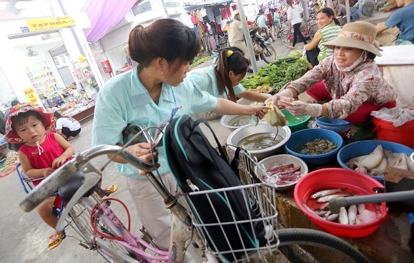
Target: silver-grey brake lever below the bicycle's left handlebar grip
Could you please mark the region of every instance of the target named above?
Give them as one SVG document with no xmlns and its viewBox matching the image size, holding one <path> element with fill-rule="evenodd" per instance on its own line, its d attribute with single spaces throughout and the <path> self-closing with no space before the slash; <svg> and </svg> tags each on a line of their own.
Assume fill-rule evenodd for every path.
<svg viewBox="0 0 414 263">
<path fill-rule="evenodd" d="M 77 191 L 71 198 L 71 201 L 69 201 L 69 203 L 66 204 L 63 213 L 60 214 L 58 224 L 55 227 L 56 231 L 62 232 L 64 230 L 64 219 L 69 215 L 69 212 L 71 212 L 73 205 L 75 205 L 77 201 L 86 194 L 86 192 L 88 192 L 91 188 L 95 187 L 100 180 L 101 175 L 97 173 L 85 175 L 84 183 L 82 184 L 82 186 L 80 186 L 80 188 L 77 189 Z"/>
</svg>

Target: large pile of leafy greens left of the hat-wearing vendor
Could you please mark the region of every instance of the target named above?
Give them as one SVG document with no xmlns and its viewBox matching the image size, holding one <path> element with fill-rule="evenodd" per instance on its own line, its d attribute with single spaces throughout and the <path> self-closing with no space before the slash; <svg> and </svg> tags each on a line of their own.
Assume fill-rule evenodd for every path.
<svg viewBox="0 0 414 263">
<path fill-rule="evenodd" d="M 284 58 L 282 58 L 284 59 Z M 298 79 L 308 71 L 308 62 L 300 58 L 294 62 L 281 62 L 260 68 L 256 75 L 250 75 L 243 79 L 241 84 L 246 89 L 258 86 L 272 86 L 273 92 L 279 92 L 280 88 L 295 79 Z"/>
</svg>

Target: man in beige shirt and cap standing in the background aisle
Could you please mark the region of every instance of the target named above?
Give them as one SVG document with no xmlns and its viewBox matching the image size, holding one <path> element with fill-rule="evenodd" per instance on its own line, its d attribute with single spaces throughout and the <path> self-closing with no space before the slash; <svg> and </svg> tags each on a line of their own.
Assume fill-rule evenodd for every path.
<svg viewBox="0 0 414 263">
<path fill-rule="evenodd" d="M 243 27 L 241 25 L 239 10 L 234 10 L 233 16 L 234 20 L 230 24 L 230 28 L 228 30 L 228 42 L 230 44 L 230 47 L 236 47 L 240 49 L 243 52 L 245 58 L 250 61 L 249 51 L 247 50 L 245 35 L 243 34 Z M 256 27 L 254 25 L 247 25 L 247 27 L 249 30 L 260 29 L 260 27 Z"/>
</svg>

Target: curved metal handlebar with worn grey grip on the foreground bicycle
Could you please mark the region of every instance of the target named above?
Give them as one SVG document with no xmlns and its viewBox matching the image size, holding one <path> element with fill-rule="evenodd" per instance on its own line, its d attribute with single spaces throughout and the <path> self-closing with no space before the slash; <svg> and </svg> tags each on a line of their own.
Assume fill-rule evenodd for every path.
<svg viewBox="0 0 414 263">
<path fill-rule="evenodd" d="M 21 201 L 20 208 L 25 212 L 32 211 L 43 200 L 52 195 L 53 192 L 56 192 L 60 186 L 64 185 L 64 183 L 77 171 L 82 171 L 84 173 L 91 172 L 92 170 L 90 169 L 90 166 L 87 166 L 89 160 L 104 154 L 121 155 L 121 157 L 128 163 L 143 171 L 151 171 L 155 168 L 153 164 L 147 164 L 139 160 L 129 151 L 121 149 L 120 146 L 97 145 L 86 151 L 82 151 L 82 153 L 78 153 L 75 158 L 66 162 L 66 164 L 58 168 L 58 170 L 46 177 L 38 186 L 29 192 L 23 201 Z"/>
</svg>

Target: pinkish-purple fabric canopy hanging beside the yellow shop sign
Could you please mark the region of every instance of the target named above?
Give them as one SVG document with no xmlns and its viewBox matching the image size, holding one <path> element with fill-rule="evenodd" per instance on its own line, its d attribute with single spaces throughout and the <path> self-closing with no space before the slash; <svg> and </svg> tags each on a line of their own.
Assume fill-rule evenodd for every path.
<svg viewBox="0 0 414 263">
<path fill-rule="evenodd" d="M 90 28 L 84 30 L 89 42 L 97 42 L 117 25 L 135 3 L 143 0 L 90 0 L 83 11 L 88 14 Z"/>
</svg>

